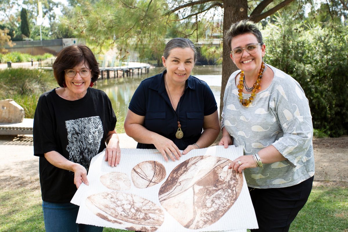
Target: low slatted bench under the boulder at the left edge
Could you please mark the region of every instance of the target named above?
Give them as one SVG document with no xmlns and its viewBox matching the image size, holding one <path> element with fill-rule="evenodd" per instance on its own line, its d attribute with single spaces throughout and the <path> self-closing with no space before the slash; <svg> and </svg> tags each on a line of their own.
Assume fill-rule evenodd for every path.
<svg viewBox="0 0 348 232">
<path fill-rule="evenodd" d="M 19 123 L 0 123 L 0 135 L 32 135 L 34 119 L 25 118 Z"/>
</svg>

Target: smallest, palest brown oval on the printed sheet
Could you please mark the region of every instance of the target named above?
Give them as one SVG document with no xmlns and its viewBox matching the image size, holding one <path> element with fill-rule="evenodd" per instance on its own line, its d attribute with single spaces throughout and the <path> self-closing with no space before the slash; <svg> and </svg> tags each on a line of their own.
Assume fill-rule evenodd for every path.
<svg viewBox="0 0 348 232">
<path fill-rule="evenodd" d="M 130 189 L 130 180 L 127 174 L 117 171 L 101 176 L 100 182 L 102 182 L 105 187 L 112 190 L 120 191 Z"/>
</svg>

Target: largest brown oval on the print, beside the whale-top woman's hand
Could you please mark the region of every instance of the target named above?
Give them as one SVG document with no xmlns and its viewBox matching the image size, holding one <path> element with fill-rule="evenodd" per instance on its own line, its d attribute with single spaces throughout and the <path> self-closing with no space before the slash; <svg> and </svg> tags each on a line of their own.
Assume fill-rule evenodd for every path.
<svg viewBox="0 0 348 232">
<path fill-rule="evenodd" d="M 217 222 L 236 202 L 243 187 L 242 173 L 228 169 L 231 162 L 210 155 L 182 162 L 159 189 L 161 205 L 188 229 Z"/>
</svg>

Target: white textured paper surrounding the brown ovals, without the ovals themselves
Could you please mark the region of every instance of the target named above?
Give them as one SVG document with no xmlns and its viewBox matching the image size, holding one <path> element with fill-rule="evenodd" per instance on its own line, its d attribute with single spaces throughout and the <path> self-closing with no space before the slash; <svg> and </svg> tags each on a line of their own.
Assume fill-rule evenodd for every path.
<svg viewBox="0 0 348 232">
<path fill-rule="evenodd" d="M 212 155 L 215 157 L 223 157 L 230 160 L 234 160 L 243 154 L 242 147 L 229 146 L 224 149 L 223 146 L 212 146 L 205 149 L 194 149 L 188 154 L 182 155 L 180 160 L 175 162 L 169 159 L 168 162 L 164 160 L 162 155 L 156 149 L 121 149 L 121 160 L 117 167 L 110 167 L 108 162 L 104 161 L 104 151 L 96 155 L 89 167 L 87 175 L 89 185 L 81 184 L 76 194 L 71 200 L 71 203 L 80 205 L 77 223 L 97 225 L 104 227 L 112 227 L 116 229 L 125 229 L 116 223 L 111 223 L 103 220 L 102 218 L 94 215 L 85 204 L 86 198 L 89 195 L 101 193 L 101 192 L 113 192 L 112 190 L 105 187 L 100 182 L 100 176 L 108 174 L 110 172 L 121 172 L 125 173 L 131 179 L 131 170 L 138 163 L 148 160 L 158 161 L 162 163 L 166 169 L 166 177 L 159 184 L 153 185 L 145 189 L 138 189 L 133 185 L 132 180 L 130 190 L 121 192 L 132 193 L 139 195 L 142 198 L 148 199 L 164 211 L 164 222 L 157 230 L 158 232 L 189 232 L 189 231 L 234 231 L 234 232 L 245 232 L 246 229 L 257 229 L 258 224 L 255 217 L 255 211 L 252 206 L 250 195 L 248 192 L 247 184 L 243 174 L 243 188 L 239 194 L 238 199 L 232 205 L 232 207 L 225 213 L 217 222 L 201 229 L 187 229 L 177 222 L 167 211 L 161 206 L 158 200 L 158 192 L 160 186 L 166 181 L 171 171 L 179 165 L 181 162 L 199 155 Z M 182 212 L 185 213 L 185 212 Z"/>
</svg>

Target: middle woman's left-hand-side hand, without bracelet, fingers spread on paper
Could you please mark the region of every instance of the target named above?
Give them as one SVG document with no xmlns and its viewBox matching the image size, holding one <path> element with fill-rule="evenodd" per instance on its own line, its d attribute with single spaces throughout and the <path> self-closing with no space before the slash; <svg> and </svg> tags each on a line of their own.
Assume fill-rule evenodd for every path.
<svg viewBox="0 0 348 232">
<path fill-rule="evenodd" d="M 175 161 L 175 158 L 179 160 L 181 153 L 179 151 L 179 148 L 173 143 L 173 141 L 161 135 L 158 136 L 158 139 L 156 139 L 155 141 L 156 142 L 153 143 L 153 145 L 155 145 L 157 150 L 162 154 L 163 158 L 166 161 L 168 161 L 167 154 L 169 155 L 171 160 Z"/>
</svg>

